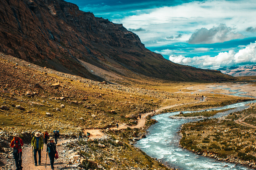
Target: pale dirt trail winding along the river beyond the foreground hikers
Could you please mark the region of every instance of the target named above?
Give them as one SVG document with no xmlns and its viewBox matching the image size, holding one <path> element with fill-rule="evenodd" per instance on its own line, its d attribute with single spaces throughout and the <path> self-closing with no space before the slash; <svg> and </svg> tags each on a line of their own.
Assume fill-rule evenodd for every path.
<svg viewBox="0 0 256 170">
<path fill-rule="evenodd" d="M 200 102 L 203 102 L 203 101 L 192 102 L 192 103 L 200 103 Z M 172 107 L 175 107 L 175 106 L 187 105 L 187 104 L 192 104 L 192 103 L 183 103 L 183 104 L 176 104 L 176 105 L 162 107 L 162 108 L 156 109 L 155 113 L 158 113 L 158 112 L 160 112 L 164 109 L 169 109 L 169 108 L 172 108 Z M 135 125 L 135 126 L 119 125 L 118 128 L 123 129 L 123 128 L 127 128 L 127 127 L 130 127 L 130 128 L 144 127 L 144 125 L 146 123 L 146 117 L 148 115 L 152 115 L 152 114 L 154 114 L 154 113 L 153 112 L 148 112 L 148 113 L 141 114 L 141 119 L 137 118 L 139 120 L 138 120 L 137 125 Z M 110 128 L 110 129 L 117 129 L 117 128 L 114 127 L 114 128 Z M 86 132 L 89 132 L 91 134 L 90 138 L 101 138 L 104 135 L 104 133 L 102 133 L 100 130 L 101 129 L 86 129 L 86 130 L 84 130 L 84 133 L 86 134 Z"/>
</svg>

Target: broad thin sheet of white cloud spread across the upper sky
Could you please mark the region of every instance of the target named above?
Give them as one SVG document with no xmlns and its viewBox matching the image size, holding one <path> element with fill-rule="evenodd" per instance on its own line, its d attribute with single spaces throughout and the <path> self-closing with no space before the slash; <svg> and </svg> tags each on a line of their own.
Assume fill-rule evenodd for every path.
<svg viewBox="0 0 256 170">
<path fill-rule="evenodd" d="M 231 31 L 226 30 L 229 31 L 227 33 L 225 29 L 223 33 L 218 32 L 222 37 L 219 38 L 216 34 L 211 37 L 214 40 L 206 41 L 212 43 L 239 38 L 241 34 L 252 37 L 253 32 L 248 32 L 246 29 L 256 27 L 255 19 L 252 17 L 256 16 L 255 8 L 255 0 L 208 0 L 204 3 L 193 1 L 171 7 L 132 11 L 134 15 L 112 21 L 122 23 L 126 28 L 147 30 L 147 32 L 135 33 L 148 47 L 154 46 L 157 40 L 164 37 L 171 38 L 179 34 L 182 34 L 182 37 L 175 41 L 186 42 L 195 30 L 205 28 L 209 31 L 213 27 L 218 28 L 221 23 L 225 23 L 227 28 L 232 28 Z M 233 33 L 233 29 L 240 34 Z M 170 44 L 169 40 L 160 43 Z"/>
</svg>

